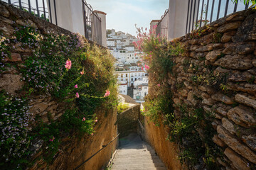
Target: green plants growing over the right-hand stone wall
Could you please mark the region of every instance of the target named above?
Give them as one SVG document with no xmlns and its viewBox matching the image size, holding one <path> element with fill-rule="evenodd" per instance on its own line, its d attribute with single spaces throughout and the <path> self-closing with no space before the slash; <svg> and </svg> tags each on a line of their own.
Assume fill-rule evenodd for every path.
<svg viewBox="0 0 256 170">
<path fill-rule="evenodd" d="M 210 28 L 199 30 L 198 38 L 208 33 Z M 218 37 L 218 35 L 216 35 Z M 200 165 L 202 169 L 218 169 L 215 159 L 222 152 L 212 138 L 215 130 L 210 124 L 213 118 L 212 113 L 206 113 L 201 106 L 189 108 L 186 104 L 176 106 L 173 101 L 173 87 L 166 79 L 176 77 L 174 71 L 176 65 L 174 60 L 183 56 L 181 43 L 166 43 L 165 40 L 150 36 L 145 38 L 142 50 L 146 53 L 144 60 L 149 63 L 150 69 L 150 89 L 146 96 L 143 111 L 155 125 L 160 125 L 160 120 L 169 127 L 169 137 L 166 140 L 176 142 L 180 149 L 180 161 L 187 165 Z M 186 71 L 192 67 L 194 73 L 198 72 L 199 66 L 191 64 L 188 60 L 183 60 L 183 69 Z M 220 84 L 225 84 L 227 75 L 213 74 L 213 68 L 205 74 L 196 74 L 191 77 L 195 84 L 204 84 L 220 88 Z M 171 79 L 173 80 L 173 79 Z M 176 89 L 183 88 L 183 82 L 176 82 Z M 193 96 L 196 100 L 202 100 L 198 96 Z M 176 108 L 174 110 L 174 107 Z"/>
</svg>

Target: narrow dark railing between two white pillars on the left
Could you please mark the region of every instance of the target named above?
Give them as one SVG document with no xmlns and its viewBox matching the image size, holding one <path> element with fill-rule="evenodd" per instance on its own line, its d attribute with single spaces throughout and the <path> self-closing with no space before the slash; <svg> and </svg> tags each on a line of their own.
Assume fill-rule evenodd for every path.
<svg viewBox="0 0 256 170">
<path fill-rule="evenodd" d="M 82 12 L 85 25 L 85 38 L 102 45 L 102 27 L 101 19 L 92 9 L 90 4 L 82 0 Z"/>
</svg>

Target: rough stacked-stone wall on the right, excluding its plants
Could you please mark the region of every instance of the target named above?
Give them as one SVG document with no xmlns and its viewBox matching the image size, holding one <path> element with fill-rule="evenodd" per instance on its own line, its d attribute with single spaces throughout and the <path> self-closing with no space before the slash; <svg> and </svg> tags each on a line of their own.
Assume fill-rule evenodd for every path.
<svg viewBox="0 0 256 170">
<path fill-rule="evenodd" d="M 203 108 L 213 115 L 212 140 L 223 151 L 216 159 L 220 169 L 255 169 L 256 12 L 233 13 L 170 43 L 180 43 L 185 50 L 173 58 L 173 74 L 161 82 L 171 86 L 174 113 L 181 114 L 181 105 Z M 154 81 L 154 76 L 149 74 L 149 79 Z M 155 86 L 151 84 L 149 94 Z M 169 150 L 176 162 L 175 145 L 165 141 L 169 130 L 151 124 L 145 122 L 147 139 L 166 164 L 171 162 L 165 153 Z M 204 136 L 202 129 L 195 130 Z"/>
</svg>

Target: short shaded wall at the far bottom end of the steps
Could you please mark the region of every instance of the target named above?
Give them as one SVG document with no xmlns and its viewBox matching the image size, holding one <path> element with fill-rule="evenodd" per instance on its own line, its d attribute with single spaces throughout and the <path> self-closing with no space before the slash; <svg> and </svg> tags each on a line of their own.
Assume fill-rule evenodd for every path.
<svg viewBox="0 0 256 170">
<path fill-rule="evenodd" d="M 139 104 L 134 105 L 117 115 L 119 137 L 125 137 L 130 133 L 137 133 L 137 120 L 139 118 L 140 106 Z"/>
</svg>

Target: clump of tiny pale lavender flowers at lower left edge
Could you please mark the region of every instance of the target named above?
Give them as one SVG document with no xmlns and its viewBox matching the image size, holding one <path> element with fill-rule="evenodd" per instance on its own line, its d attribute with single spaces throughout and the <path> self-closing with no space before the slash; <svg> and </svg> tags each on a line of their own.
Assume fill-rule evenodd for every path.
<svg viewBox="0 0 256 170">
<path fill-rule="evenodd" d="M 0 91 L 0 160 L 1 169 L 17 167 L 21 157 L 27 153 L 31 137 L 29 137 L 28 121 L 31 120 L 31 113 L 28 112 L 26 98 L 9 96 Z M 13 164 L 6 166 L 4 162 Z M 11 166 L 11 167 L 10 167 Z"/>
</svg>

